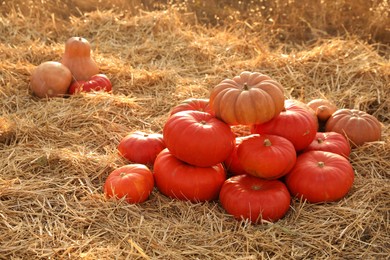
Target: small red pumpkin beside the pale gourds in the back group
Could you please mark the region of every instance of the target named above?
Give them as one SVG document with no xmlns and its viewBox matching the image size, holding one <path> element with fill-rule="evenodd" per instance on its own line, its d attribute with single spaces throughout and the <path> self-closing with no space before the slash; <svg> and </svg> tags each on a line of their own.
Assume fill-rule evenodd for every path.
<svg viewBox="0 0 390 260">
<path fill-rule="evenodd" d="M 68 90 L 69 94 L 72 95 L 80 92 L 92 91 L 112 91 L 112 84 L 110 79 L 104 74 L 96 74 L 93 75 L 88 81 L 73 81 Z"/>
</svg>

